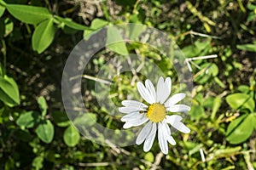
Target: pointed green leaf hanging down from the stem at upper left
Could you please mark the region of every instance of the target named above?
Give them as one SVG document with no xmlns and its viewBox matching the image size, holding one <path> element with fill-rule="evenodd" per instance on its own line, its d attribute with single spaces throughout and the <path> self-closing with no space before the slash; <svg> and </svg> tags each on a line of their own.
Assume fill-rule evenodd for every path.
<svg viewBox="0 0 256 170">
<path fill-rule="evenodd" d="M 32 48 L 41 54 L 46 48 L 49 47 L 55 37 L 56 28 L 53 19 L 44 20 L 40 23 L 32 35 Z"/>
</svg>

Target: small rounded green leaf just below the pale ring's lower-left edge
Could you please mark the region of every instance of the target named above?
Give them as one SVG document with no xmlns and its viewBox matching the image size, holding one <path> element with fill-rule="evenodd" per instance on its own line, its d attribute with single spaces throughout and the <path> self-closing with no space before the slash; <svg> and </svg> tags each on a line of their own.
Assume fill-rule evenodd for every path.
<svg viewBox="0 0 256 170">
<path fill-rule="evenodd" d="M 75 127 L 73 127 L 73 125 L 70 125 L 65 130 L 63 139 L 65 144 L 67 144 L 70 147 L 73 147 L 79 144 L 79 139 L 80 139 L 79 131 Z"/>
</svg>

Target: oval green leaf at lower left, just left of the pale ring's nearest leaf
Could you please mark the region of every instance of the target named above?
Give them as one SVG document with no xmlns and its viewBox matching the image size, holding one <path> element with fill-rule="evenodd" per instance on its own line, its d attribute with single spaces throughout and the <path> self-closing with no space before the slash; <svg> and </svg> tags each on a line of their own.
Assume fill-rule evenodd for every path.
<svg viewBox="0 0 256 170">
<path fill-rule="evenodd" d="M 38 134 L 38 138 L 47 144 L 49 144 L 54 137 L 54 127 L 49 120 L 41 121 L 35 132 Z"/>
</svg>

